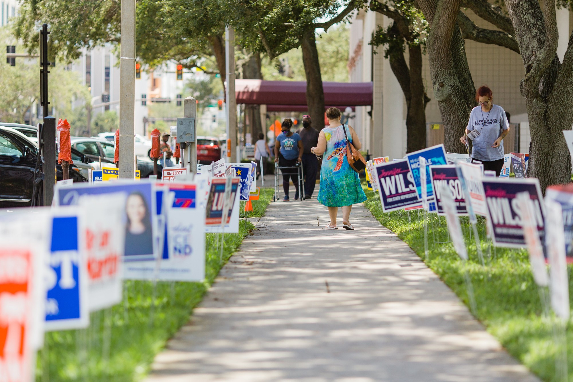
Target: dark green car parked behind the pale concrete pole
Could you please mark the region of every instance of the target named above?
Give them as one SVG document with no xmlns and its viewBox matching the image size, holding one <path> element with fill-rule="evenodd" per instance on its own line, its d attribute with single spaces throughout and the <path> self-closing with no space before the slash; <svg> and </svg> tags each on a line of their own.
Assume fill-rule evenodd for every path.
<svg viewBox="0 0 573 382">
<path fill-rule="evenodd" d="M 86 137 L 72 137 L 72 149 L 76 149 L 84 156 L 87 156 L 92 162 L 99 163 L 100 159 L 102 166 L 115 167 L 113 164 L 113 143 L 95 138 Z M 138 156 L 138 170 L 141 171 L 142 178 L 148 178 L 153 174 L 153 162 L 147 156 Z M 105 164 L 104 164 L 105 163 Z M 112 165 L 112 166 L 109 166 Z M 163 167 L 158 163 L 158 174 L 160 177 Z"/>
</svg>

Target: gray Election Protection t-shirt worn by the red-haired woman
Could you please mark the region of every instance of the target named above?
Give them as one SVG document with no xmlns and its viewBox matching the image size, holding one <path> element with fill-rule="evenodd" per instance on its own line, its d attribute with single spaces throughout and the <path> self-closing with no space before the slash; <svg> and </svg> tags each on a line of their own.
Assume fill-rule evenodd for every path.
<svg viewBox="0 0 573 382">
<path fill-rule="evenodd" d="M 476 129 L 480 135 L 472 141 L 472 158 L 485 162 L 502 159 L 503 140 L 498 147 L 493 148 L 492 144 L 500 136 L 501 129 L 508 128 L 509 121 L 501 106 L 492 105 L 489 112 L 482 111 L 481 106 L 474 107 L 469 115 L 468 131 Z"/>
</svg>

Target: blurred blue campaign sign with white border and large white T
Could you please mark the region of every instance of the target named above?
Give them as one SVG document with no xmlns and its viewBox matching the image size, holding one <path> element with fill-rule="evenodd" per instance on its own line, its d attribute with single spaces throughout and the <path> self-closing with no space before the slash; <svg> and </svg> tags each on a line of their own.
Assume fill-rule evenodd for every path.
<svg viewBox="0 0 573 382">
<path fill-rule="evenodd" d="M 85 258 L 80 253 L 77 212 L 56 210 L 52 219 L 49 266 L 45 276 L 48 290 L 46 331 L 80 329 L 89 325 L 88 273 Z"/>
</svg>

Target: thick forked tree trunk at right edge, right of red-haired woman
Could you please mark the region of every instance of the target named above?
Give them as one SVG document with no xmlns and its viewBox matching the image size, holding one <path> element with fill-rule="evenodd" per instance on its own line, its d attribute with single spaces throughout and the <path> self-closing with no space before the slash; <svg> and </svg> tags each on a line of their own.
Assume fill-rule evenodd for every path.
<svg viewBox="0 0 573 382">
<path fill-rule="evenodd" d="M 545 192 L 551 184 L 571 182 L 571 157 L 563 130 L 570 130 L 573 123 L 573 36 L 560 64 L 554 2 L 546 0 L 545 14 L 537 0 L 505 4 L 525 66 L 520 88 L 531 133 L 528 176 L 539 178 Z"/>
</svg>

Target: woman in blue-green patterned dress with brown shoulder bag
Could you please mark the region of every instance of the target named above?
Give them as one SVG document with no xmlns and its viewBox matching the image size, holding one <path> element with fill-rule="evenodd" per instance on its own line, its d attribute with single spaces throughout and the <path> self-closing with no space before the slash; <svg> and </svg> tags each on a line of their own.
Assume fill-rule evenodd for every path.
<svg viewBox="0 0 573 382">
<path fill-rule="evenodd" d="M 358 173 L 350 167 L 346 159 L 346 138 L 344 137 L 343 125 L 340 123 L 342 114 L 338 108 L 329 108 L 326 112 L 328 127 L 325 127 L 319 135 L 319 143 L 311 149 L 315 155 L 322 155 L 323 164 L 320 170 L 320 190 L 318 201 L 328 207 L 330 223 L 326 226 L 329 230 L 337 230 L 336 215 L 338 207 L 342 207 L 342 224 L 347 230 L 354 230 L 350 224 L 350 211 L 352 204 L 362 203 L 366 195 Z M 354 129 L 344 125 L 348 140 L 359 150 L 362 147 Z"/>
</svg>

